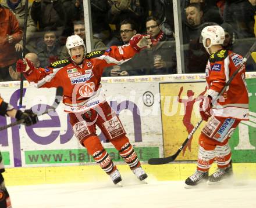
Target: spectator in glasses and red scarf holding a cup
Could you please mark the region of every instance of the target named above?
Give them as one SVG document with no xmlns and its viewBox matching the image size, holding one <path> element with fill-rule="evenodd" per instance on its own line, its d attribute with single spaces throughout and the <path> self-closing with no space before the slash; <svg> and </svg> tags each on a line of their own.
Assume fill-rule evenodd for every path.
<svg viewBox="0 0 256 208">
<path fill-rule="evenodd" d="M 155 17 L 146 21 L 147 34 L 151 36 L 152 48 L 139 54 L 144 74 L 176 74 L 175 41 L 161 31 L 160 22 Z"/>
</svg>

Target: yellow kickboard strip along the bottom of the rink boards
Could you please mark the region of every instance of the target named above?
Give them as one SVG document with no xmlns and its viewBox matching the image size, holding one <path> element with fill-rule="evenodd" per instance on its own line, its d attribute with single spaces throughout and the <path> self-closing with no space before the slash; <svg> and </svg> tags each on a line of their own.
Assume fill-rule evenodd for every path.
<svg viewBox="0 0 256 208">
<path fill-rule="evenodd" d="M 127 165 L 117 165 L 123 178 L 132 177 Z M 195 163 L 174 163 L 166 165 L 143 165 L 150 180 L 185 180 L 194 173 Z M 210 174 L 216 169 L 211 168 Z M 234 176 L 256 179 L 256 163 L 234 163 Z M 34 185 L 56 183 L 79 183 L 110 180 L 97 165 L 58 166 L 58 167 L 20 167 L 9 168 L 3 173 L 6 185 Z"/>
</svg>

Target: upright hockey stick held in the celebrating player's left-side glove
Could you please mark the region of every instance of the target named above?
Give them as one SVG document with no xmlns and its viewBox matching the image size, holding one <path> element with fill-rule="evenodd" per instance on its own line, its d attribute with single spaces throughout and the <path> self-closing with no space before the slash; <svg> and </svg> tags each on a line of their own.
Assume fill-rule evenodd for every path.
<svg viewBox="0 0 256 208">
<path fill-rule="evenodd" d="M 27 41 L 27 16 L 29 15 L 29 0 L 25 1 L 25 16 L 24 16 L 24 31 L 23 31 L 23 40 L 22 40 L 22 59 L 24 59 L 25 54 L 24 50 L 26 48 L 26 41 Z M 19 108 L 22 108 L 22 99 L 23 99 L 23 82 L 24 82 L 24 76 L 23 74 L 20 74 L 20 102 L 19 102 Z"/>
</svg>

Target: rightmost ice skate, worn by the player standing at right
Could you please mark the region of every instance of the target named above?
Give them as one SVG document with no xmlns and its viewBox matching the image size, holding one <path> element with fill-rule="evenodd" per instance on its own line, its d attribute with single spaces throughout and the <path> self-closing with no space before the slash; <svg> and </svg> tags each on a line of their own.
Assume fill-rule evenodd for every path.
<svg viewBox="0 0 256 208">
<path fill-rule="evenodd" d="M 233 176 L 233 168 L 232 163 L 230 162 L 229 167 L 225 167 L 223 169 L 218 168 L 215 173 L 213 173 L 211 176 L 209 176 L 207 184 L 208 185 L 214 185 L 219 181 L 222 181 L 223 179 L 232 178 Z"/>
</svg>

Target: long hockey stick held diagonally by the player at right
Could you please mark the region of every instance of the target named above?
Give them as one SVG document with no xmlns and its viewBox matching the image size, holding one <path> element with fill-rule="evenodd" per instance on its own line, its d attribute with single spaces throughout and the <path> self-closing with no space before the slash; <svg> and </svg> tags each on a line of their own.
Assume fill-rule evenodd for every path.
<svg viewBox="0 0 256 208">
<path fill-rule="evenodd" d="M 243 61 L 241 62 L 240 67 L 232 74 L 232 76 L 230 76 L 229 81 L 227 81 L 226 84 L 223 86 L 223 88 L 222 88 L 221 92 L 218 94 L 218 96 L 216 96 L 214 99 L 212 99 L 211 106 L 216 102 L 216 100 L 218 100 L 219 96 L 221 96 L 225 92 L 227 86 L 230 85 L 230 83 L 234 79 L 234 76 L 237 75 L 237 73 L 240 71 L 241 67 L 243 67 L 243 65 L 246 63 L 250 54 L 254 52 L 255 48 L 256 48 L 256 42 L 254 42 L 253 46 L 251 46 L 249 52 L 246 54 Z M 177 158 L 177 156 L 180 154 L 182 149 L 186 146 L 187 142 L 193 136 L 193 134 L 198 129 L 198 127 L 200 126 L 201 123 L 202 123 L 202 119 L 195 125 L 194 129 L 190 132 L 189 136 L 186 138 L 186 140 L 183 142 L 183 144 L 179 147 L 179 149 L 177 150 L 177 152 L 174 155 L 168 156 L 166 158 L 150 158 L 148 160 L 148 164 L 150 164 L 150 165 L 162 165 L 162 164 L 166 164 L 166 163 L 169 163 L 169 162 L 173 162 Z"/>
</svg>

